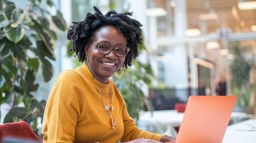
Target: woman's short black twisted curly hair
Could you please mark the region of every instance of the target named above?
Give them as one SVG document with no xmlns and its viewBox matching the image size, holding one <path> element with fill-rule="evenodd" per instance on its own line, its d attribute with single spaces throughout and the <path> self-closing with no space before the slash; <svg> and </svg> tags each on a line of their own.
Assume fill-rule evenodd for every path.
<svg viewBox="0 0 256 143">
<path fill-rule="evenodd" d="M 130 48 L 129 53 L 125 57 L 124 66 L 131 66 L 132 58 L 138 56 L 138 44 L 141 44 L 140 22 L 129 17 L 132 13 L 116 13 L 109 11 L 103 15 L 98 8 L 93 7 L 95 13 L 88 13 L 84 21 L 73 22 L 72 29 L 67 33 L 67 39 L 73 41 L 70 51 L 76 52 L 80 62 L 85 60 L 84 48 L 91 44 L 94 32 L 102 26 L 115 26 L 119 32 L 124 34 L 127 40 L 127 47 Z"/>
</svg>

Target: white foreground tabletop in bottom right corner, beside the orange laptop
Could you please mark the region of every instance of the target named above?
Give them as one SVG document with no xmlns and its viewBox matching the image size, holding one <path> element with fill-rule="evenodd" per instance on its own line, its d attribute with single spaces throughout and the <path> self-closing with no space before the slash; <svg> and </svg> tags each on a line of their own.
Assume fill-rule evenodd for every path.
<svg viewBox="0 0 256 143">
<path fill-rule="evenodd" d="M 239 125 L 254 126 L 253 131 L 237 130 L 236 126 Z M 227 127 L 226 133 L 223 138 L 223 143 L 255 143 L 256 142 L 256 119 L 245 120 L 240 123 L 235 123 Z"/>
</svg>

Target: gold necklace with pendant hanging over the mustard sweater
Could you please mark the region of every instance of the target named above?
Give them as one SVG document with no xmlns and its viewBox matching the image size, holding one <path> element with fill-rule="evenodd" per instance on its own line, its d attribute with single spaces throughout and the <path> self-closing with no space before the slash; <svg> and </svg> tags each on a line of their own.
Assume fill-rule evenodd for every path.
<svg viewBox="0 0 256 143">
<path fill-rule="evenodd" d="M 115 129 L 115 126 L 116 126 L 116 119 L 115 117 L 112 116 L 112 111 L 114 110 L 114 107 L 112 105 L 112 98 L 113 98 L 113 95 L 112 95 L 112 88 L 111 88 L 111 85 L 109 86 L 109 89 L 110 89 L 110 102 L 109 102 L 109 105 L 107 105 L 103 99 L 103 96 L 101 94 L 101 91 L 100 91 L 100 88 L 98 88 L 98 85 L 96 83 L 96 79 L 93 78 L 94 80 L 94 83 L 96 85 L 96 88 L 98 90 L 98 94 L 100 94 L 100 97 L 101 97 L 101 100 L 102 100 L 102 103 L 103 103 L 103 107 L 105 108 L 105 110 L 107 111 L 107 114 L 109 114 L 109 124 L 110 126 L 112 127 L 112 129 Z"/>
</svg>

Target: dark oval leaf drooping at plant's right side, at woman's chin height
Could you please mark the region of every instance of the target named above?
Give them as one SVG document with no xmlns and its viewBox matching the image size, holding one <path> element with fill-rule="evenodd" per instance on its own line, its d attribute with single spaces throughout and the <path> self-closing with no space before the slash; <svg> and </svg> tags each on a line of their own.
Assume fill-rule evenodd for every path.
<svg viewBox="0 0 256 143">
<path fill-rule="evenodd" d="M 51 77 L 53 77 L 53 65 L 51 65 L 51 63 L 46 59 L 44 59 L 42 63 L 42 75 L 44 77 L 44 82 L 49 82 Z"/>
</svg>

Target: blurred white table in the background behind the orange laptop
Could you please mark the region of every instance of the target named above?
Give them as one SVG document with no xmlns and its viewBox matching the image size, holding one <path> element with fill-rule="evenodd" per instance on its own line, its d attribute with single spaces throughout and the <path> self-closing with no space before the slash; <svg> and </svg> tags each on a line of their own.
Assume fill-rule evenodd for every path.
<svg viewBox="0 0 256 143">
<path fill-rule="evenodd" d="M 178 113 L 177 110 L 145 111 L 140 114 L 138 127 L 151 132 L 177 136 L 174 126 L 180 126 L 183 116 L 184 113 Z M 246 113 L 233 112 L 230 120 L 236 121 L 237 119 L 243 118 L 252 119 L 254 116 Z"/>
</svg>

